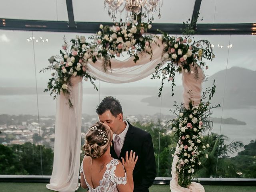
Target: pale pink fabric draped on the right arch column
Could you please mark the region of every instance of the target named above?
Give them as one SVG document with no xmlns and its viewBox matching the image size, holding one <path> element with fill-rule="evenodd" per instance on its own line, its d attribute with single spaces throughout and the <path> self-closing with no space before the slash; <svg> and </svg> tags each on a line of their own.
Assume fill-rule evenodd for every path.
<svg viewBox="0 0 256 192">
<path fill-rule="evenodd" d="M 196 79 L 195 69 L 192 68 L 191 73 L 185 73 L 182 71 L 182 85 L 183 85 L 183 104 L 188 108 L 188 103 L 190 99 L 194 101 L 193 106 L 196 106 L 200 103 L 201 91 L 202 91 L 202 82 L 204 79 L 204 74 L 201 68 L 198 67 L 198 78 Z M 204 187 L 196 182 L 192 182 L 188 188 L 181 187 L 178 184 L 178 176 L 176 174 L 176 164 L 178 162 L 178 144 L 176 146 L 175 155 L 172 161 L 172 180 L 170 181 L 170 189 L 172 192 L 204 192 Z"/>
</svg>

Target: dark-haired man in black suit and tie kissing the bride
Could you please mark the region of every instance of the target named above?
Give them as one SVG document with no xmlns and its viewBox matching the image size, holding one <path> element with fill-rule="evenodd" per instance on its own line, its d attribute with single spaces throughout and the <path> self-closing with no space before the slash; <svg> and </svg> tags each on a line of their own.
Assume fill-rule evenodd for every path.
<svg viewBox="0 0 256 192">
<path fill-rule="evenodd" d="M 113 158 L 125 159 L 126 151 L 132 150 L 138 155 L 133 171 L 134 192 L 148 192 L 156 177 L 156 161 L 151 135 L 128 121 L 123 120 L 122 106 L 118 100 L 105 97 L 96 112 L 101 122 L 110 126 L 113 132 L 113 146 L 110 154 Z"/>
</svg>

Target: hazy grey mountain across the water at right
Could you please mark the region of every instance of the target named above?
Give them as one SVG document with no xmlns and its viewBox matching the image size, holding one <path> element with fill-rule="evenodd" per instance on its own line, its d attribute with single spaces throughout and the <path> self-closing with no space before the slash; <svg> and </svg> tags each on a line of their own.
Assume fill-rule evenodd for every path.
<svg viewBox="0 0 256 192">
<path fill-rule="evenodd" d="M 226 78 L 225 78 L 226 77 Z M 203 90 L 212 87 L 213 80 L 216 81 L 216 90 L 212 99 L 212 104 L 222 106 L 223 98 L 225 109 L 256 107 L 256 71 L 240 67 L 219 71 L 208 77 L 208 81 L 202 84 Z M 171 96 L 170 88 L 162 93 L 162 107 L 172 108 L 173 101 L 182 102 L 182 86 L 174 88 L 174 96 Z M 144 98 L 141 101 L 149 106 L 158 106 L 157 93 L 155 96 Z M 159 98 L 158 98 L 159 99 Z"/>
</svg>

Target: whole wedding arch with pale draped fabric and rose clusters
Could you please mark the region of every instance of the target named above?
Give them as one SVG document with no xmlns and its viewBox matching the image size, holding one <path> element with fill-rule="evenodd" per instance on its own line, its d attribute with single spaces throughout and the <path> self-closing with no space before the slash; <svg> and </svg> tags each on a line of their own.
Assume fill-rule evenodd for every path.
<svg viewBox="0 0 256 192">
<path fill-rule="evenodd" d="M 203 92 L 204 74 L 208 69 L 204 59 L 215 56 L 207 40 L 192 41 L 190 36 L 176 37 L 162 33 L 148 34 L 151 24 L 135 23 L 100 25 L 100 30 L 90 37 L 76 36 L 69 46 L 64 38 L 59 56 L 49 59 L 50 66 L 40 72 L 54 70 L 45 92 L 57 98 L 54 165 L 47 188 L 56 191 L 74 191 L 78 185 L 81 143 L 82 80 L 90 81 L 96 90 L 94 80 L 110 83 L 126 83 L 141 80 L 152 75 L 161 78 L 161 95 L 164 80 L 171 82 L 172 95 L 175 86 L 175 72 L 182 74 L 183 104 L 174 111 L 172 130 L 178 139 L 173 155 L 172 181 L 170 188 L 179 191 L 204 191 L 203 186 L 191 182 L 194 169 L 200 165 L 200 157 L 206 156 L 208 144 L 201 143 L 202 132 L 207 127 L 205 112 L 210 107 L 215 86 Z M 123 52 L 130 58 L 119 61 Z M 204 102 L 206 94 L 209 100 Z M 208 113 L 209 114 L 209 113 Z"/>
</svg>

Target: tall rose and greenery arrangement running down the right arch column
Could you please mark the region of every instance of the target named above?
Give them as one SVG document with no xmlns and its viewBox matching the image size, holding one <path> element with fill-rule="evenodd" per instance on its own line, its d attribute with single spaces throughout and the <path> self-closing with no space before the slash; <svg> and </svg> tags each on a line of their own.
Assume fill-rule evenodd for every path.
<svg viewBox="0 0 256 192">
<path fill-rule="evenodd" d="M 172 120 L 172 131 L 178 140 L 178 156 L 176 164 L 176 174 L 178 184 L 182 187 L 188 187 L 191 184 L 194 170 L 201 164 L 200 158 L 208 158 L 204 152 L 209 144 L 202 143 L 202 134 L 205 130 L 210 130 L 209 116 L 212 109 L 220 107 L 220 104 L 210 106 L 210 101 L 215 92 L 215 81 L 212 88 L 207 88 L 201 97 L 200 103 L 193 106 L 192 99 L 189 102 L 189 108 L 186 109 L 183 104 L 178 106 L 174 102 L 176 109 L 170 110 L 177 118 Z M 205 102 L 208 95 L 208 100 Z M 173 154 L 174 156 L 174 154 Z"/>
</svg>

